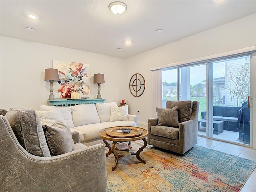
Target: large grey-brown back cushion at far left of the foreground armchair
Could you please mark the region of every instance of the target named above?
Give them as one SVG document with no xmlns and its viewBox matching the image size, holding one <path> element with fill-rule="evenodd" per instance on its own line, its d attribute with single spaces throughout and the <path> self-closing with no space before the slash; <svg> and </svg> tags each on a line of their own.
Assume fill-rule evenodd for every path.
<svg viewBox="0 0 256 192">
<path fill-rule="evenodd" d="M 10 109 L 5 117 L 20 145 L 30 154 L 50 157 L 39 116 L 32 109 Z"/>
</svg>

